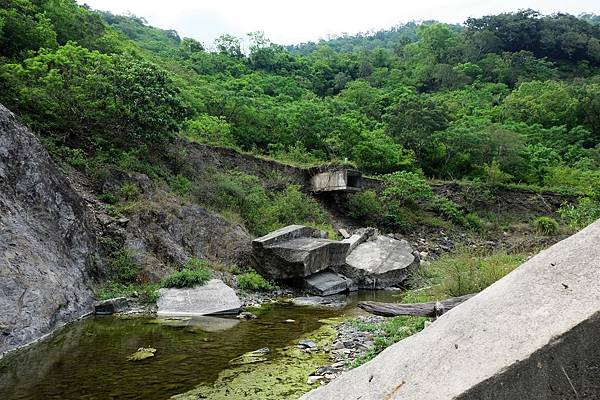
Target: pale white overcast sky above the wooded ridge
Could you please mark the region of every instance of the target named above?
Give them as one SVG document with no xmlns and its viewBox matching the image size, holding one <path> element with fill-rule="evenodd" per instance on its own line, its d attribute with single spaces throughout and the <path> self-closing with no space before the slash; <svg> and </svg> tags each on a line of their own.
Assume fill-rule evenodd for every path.
<svg viewBox="0 0 600 400">
<path fill-rule="evenodd" d="M 463 22 L 471 16 L 533 8 L 543 13 L 600 14 L 599 0 L 79 0 L 116 14 L 131 12 L 150 25 L 175 29 L 206 45 L 223 33 L 263 31 L 293 44 L 327 35 L 384 29 L 411 20 Z"/>
</svg>

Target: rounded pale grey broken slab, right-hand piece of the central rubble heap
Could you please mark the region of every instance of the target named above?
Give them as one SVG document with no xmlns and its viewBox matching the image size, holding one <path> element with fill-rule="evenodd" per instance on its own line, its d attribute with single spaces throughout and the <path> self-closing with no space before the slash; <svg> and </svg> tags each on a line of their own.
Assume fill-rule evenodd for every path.
<svg viewBox="0 0 600 400">
<path fill-rule="evenodd" d="M 359 236 L 358 245 L 346 257 L 346 264 L 334 270 L 352 279 L 361 289 L 383 289 L 399 285 L 419 265 L 413 248 L 405 240 L 388 236 Z M 355 238 L 353 235 L 347 241 Z M 364 240 L 364 241 L 363 241 Z"/>
</svg>

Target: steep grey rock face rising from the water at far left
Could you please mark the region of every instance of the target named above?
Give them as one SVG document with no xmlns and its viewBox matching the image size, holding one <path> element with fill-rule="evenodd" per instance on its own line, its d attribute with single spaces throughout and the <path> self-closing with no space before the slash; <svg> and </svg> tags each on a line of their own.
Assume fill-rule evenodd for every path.
<svg viewBox="0 0 600 400">
<path fill-rule="evenodd" d="M 92 222 L 36 137 L 0 105 L 0 353 L 91 310 Z"/>
</svg>

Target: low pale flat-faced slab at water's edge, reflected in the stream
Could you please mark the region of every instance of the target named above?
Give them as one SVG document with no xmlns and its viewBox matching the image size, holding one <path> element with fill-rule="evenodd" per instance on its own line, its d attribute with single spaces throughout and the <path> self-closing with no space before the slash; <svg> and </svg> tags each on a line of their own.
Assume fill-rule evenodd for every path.
<svg viewBox="0 0 600 400">
<path fill-rule="evenodd" d="M 242 302 L 235 291 L 219 279 L 193 288 L 160 289 L 157 315 L 196 317 L 211 314 L 236 314 Z"/>
</svg>

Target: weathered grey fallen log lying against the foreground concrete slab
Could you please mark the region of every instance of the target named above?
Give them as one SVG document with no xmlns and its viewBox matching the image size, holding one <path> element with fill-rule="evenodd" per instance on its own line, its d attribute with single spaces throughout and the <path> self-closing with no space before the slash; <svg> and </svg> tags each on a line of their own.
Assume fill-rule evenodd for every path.
<svg viewBox="0 0 600 400">
<path fill-rule="evenodd" d="M 467 301 L 477 293 L 467 294 L 459 297 L 451 297 L 446 300 L 431 303 L 379 303 L 376 301 L 361 301 L 358 307 L 371 314 L 384 317 L 395 317 L 398 315 L 412 315 L 416 317 L 439 317 L 448 310 L 453 309 L 460 303 Z"/>
</svg>

